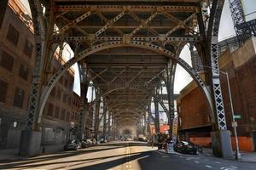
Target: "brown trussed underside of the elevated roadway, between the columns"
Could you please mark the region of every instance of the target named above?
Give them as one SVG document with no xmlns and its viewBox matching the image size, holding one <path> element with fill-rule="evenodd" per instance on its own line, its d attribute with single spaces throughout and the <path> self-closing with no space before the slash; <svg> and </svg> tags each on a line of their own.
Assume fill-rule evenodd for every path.
<svg viewBox="0 0 256 170">
<path fill-rule="evenodd" d="M 58 29 L 53 41 L 68 42 L 77 54 L 96 46 L 102 48 L 79 64 L 84 65 L 87 81 L 93 82 L 98 96 L 103 95 L 113 119 L 134 124 L 148 111 L 162 83 L 175 74 L 177 64 L 166 54 L 137 45 L 157 46 L 178 58 L 186 43 L 201 40 L 197 18 L 200 3 L 55 0 Z M 118 44 L 104 48 L 104 43 L 111 42 Z M 168 88 L 173 88 L 171 83 Z"/>
</svg>

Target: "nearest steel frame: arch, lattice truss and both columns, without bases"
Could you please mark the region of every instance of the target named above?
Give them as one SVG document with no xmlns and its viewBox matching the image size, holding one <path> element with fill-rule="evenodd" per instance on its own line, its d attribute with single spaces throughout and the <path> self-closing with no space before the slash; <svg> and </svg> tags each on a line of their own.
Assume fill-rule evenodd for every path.
<svg viewBox="0 0 256 170">
<path fill-rule="evenodd" d="M 54 1 L 52 1 L 54 2 Z M 55 1 L 57 2 L 57 1 Z M 61 1 L 58 1 L 61 2 Z M 149 7 L 146 6 L 96 6 L 96 5 L 74 5 L 72 7 L 65 8 L 64 6 L 58 6 L 58 4 L 54 4 L 55 8 L 53 8 L 53 3 L 50 3 L 49 6 L 47 6 L 47 11 L 50 11 L 49 14 L 42 14 L 42 7 L 39 1 L 29 1 L 30 6 L 32 8 L 32 18 L 33 18 L 33 24 L 34 24 L 34 30 L 35 30 L 35 39 L 36 39 L 36 65 L 35 65 L 35 71 L 33 76 L 33 83 L 32 83 L 32 94 L 29 102 L 29 110 L 28 110 L 28 122 L 27 127 L 32 128 L 33 123 L 37 122 L 40 123 L 40 116 L 42 116 L 42 112 L 44 108 L 44 103 L 46 99 L 49 96 L 50 90 L 54 87 L 55 83 L 58 81 L 58 79 L 61 77 L 61 75 L 67 71 L 67 69 L 73 65 L 75 62 L 78 62 L 85 57 L 87 57 L 90 54 L 95 54 L 99 51 L 102 51 L 104 49 L 108 48 L 121 48 L 121 47 L 133 47 L 133 48 L 146 48 L 151 51 L 153 51 L 156 54 L 163 54 L 163 56 L 170 57 L 172 60 L 176 61 L 177 64 L 181 65 L 186 71 L 189 72 L 191 77 L 195 79 L 195 82 L 198 83 L 199 87 L 203 90 L 204 94 L 207 97 L 207 101 L 210 104 L 210 107 L 212 108 L 212 103 L 216 104 L 215 108 L 217 110 L 217 116 L 218 116 L 218 127 L 220 129 L 225 129 L 225 120 L 224 120 L 224 107 L 222 102 L 222 96 L 220 92 L 220 86 L 219 86 L 219 79 L 218 79 L 218 53 L 217 47 L 215 46 L 217 44 L 217 36 L 218 36 L 218 22 L 219 22 L 219 16 L 221 14 L 221 9 L 224 1 L 216 0 L 212 1 L 212 10 L 210 14 L 210 20 L 209 20 L 209 26 L 208 26 L 208 35 L 207 35 L 207 41 L 212 42 L 211 44 L 211 60 L 212 60 L 212 82 L 213 82 L 213 94 L 215 94 L 215 100 L 212 101 L 211 94 L 209 93 L 206 85 L 204 82 L 201 81 L 201 77 L 196 73 L 195 69 L 191 68 L 183 59 L 176 58 L 175 57 L 175 50 L 172 48 L 177 48 L 178 45 L 175 43 L 175 41 L 178 42 L 201 42 L 204 40 L 204 36 L 201 36 L 198 32 L 195 32 L 193 29 L 193 23 L 195 23 L 196 18 L 195 14 L 199 14 L 198 11 L 200 11 L 200 8 L 198 8 L 198 2 L 195 6 L 157 6 L 157 5 L 150 5 Z M 108 19 L 107 16 L 104 16 L 101 11 L 102 8 L 109 11 L 114 11 L 115 13 L 118 13 L 118 15 L 115 15 L 114 18 Z M 54 10 L 53 10 L 54 9 Z M 151 10 L 151 11 L 150 11 Z M 73 24 L 67 24 L 72 19 L 67 19 L 68 15 L 67 12 L 77 12 L 79 11 L 80 14 L 83 12 L 84 14 L 78 15 L 78 17 L 73 18 Z M 79 27 L 79 23 L 83 23 L 82 21 L 86 18 L 90 18 L 91 12 L 96 11 L 96 15 L 99 16 L 101 20 L 104 21 L 104 26 L 102 28 L 94 33 L 91 33 L 85 31 L 83 28 Z M 137 13 L 139 12 L 150 12 L 150 15 L 148 15 L 147 18 L 141 19 L 138 17 Z M 178 18 L 177 16 L 173 16 L 169 12 L 175 12 L 175 13 L 183 13 L 187 14 L 185 17 L 182 16 Z M 169 14 L 168 14 L 169 13 Z M 132 18 L 132 20 L 136 20 L 137 23 L 139 23 L 138 26 L 135 26 L 136 28 L 131 31 L 131 34 L 126 34 L 124 30 L 122 30 L 122 24 L 120 26 L 115 26 L 114 24 L 118 23 L 118 21 L 124 17 L 126 14 L 129 14 Z M 159 29 L 155 26 L 149 25 L 149 23 L 153 23 L 154 19 L 157 19 L 159 17 L 158 15 L 164 15 L 167 20 L 172 20 L 173 23 L 176 24 L 176 26 L 169 26 L 169 28 L 165 33 L 161 31 L 159 34 L 158 31 L 155 31 L 156 29 Z M 60 18 L 62 21 L 59 21 L 57 23 L 57 26 L 60 26 L 60 31 L 55 31 L 55 34 L 52 32 L 52 27 L 54 26 L 54 20 L 53 16 L 56 16 L 55 19 Z M 72 15 L 70 15 L 72 16 Z M 75 16 L 75 15 L 73 15 Z M 44 17 L 49 17 L 48 22 L 45 22 Z M 107 18 L 106 18 L 107 17 Z M 183 19 L 181 19 L 183 18 Z M 66 25 L 65 25 L 66 22 Z M 197 20 L 198 22 L 198 20 Z M 47 24 L 47 29 L 45 25 Z M 157 22 L 155 22 L 157 23 Z M 197 23 L 199 27 L 202 27 L 202 23 Z M 125 25 L 123 25 L 125 26 Z M 67 27 L 67 29 L 66 29 Z M 127 26 L 126 26 L 127 27 Z M 207 26 L 206 26 L 207 27 Z M 213 27 L 213 28 L 212 28 Z M 64 29 L 65 28 L 65 29 Z M 106 32 L 108 29 L 113 29 L 116 31 L 116 33 L 119 36 L 116 36 L 117 34 L 111 35 L 110 32 L 108 32 L 108 36 L 101 37 L 101 35 Z M 72 29 L 72 30 L 71 30 Z M 127 28 L 128 29 L 128 28 Z M 148 30 L 150 32 L 146 37 L 142 37 L 142 35 L 145 35 L 143 32 L 143 29 Z M 69 31 L 70 30 L 70 31 Z M 178 30 L 183 30 L 184 32 L 187 32 L 189 37 L 184 37 L 182 32 L 178 32 Z M 68 32 L 68 34 L 67 34 Z M 210 35 L 211 34 L 211 35 Z M 75 35 L 75 36 L 73 36 Z M 173 37 L 175 35 L 176 37 Z M 48 37 L 48 38 L 45 38 Z M 51 37 L 51 38 L 49 38 Z M 66 39 L 63 39 L 63 37 L 66 37 Z M 177 39 L 177 37 L 180 37 L 180 39 Z M 61 39 L 62 38 L 62 39 Z M 44 40 L 44 41 L 42 41 Z M 211 41 L 212 40 L 212 41 Z M 73 42 L 79 43 L 79 48 L 86 48 L 85 50 L 76 50 L 78 53 L 74 56 L 73 59 L 70 59 L 67 61 L 65 65 L 62 65 L 60 70 L 55 73 L 54 76 L 50 77 L 48 79 L 48 83 L 46 88 L 42 89 L 42 82 L 44 82 L 44 77 L 42 76 L 44 74 L 44 59 L 47 59 L 49 56 L 49 53 L 47 53 L 47 49 L 45 48 L 45 44 L 49 42 L 63 42 L 67 41 L 70 42 L 71 46 L 73 46 Z M 83 42 L 87 42 L 87 45 Z M 166 45 L 172 44 L 171 48 L 168 48 Z M 88 45 L 89 44 L 89 45 Z M 180 47 L 179 47 L 180 48 Z M 42 56 L 45 56 L 44 59 Z M 217 78 L 216 78 L 217 77 Z M 126 85 L 127 86 L 127 85 Z M 38 96 L 42 93 L 42 98 L 39 99 Z M 219 95 L 220 94 L 220 95 Z M 219 102 L 221 100 L 221 102 Z"/>
</svg>

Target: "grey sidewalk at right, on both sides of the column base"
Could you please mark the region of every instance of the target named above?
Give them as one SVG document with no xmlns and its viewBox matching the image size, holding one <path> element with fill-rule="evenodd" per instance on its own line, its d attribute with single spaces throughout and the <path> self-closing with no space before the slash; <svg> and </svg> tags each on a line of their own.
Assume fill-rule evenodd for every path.
<svg viewBox="0 0 256 170">
<path fill-rule="evenodd" d="M 244 152 L 241 151 L 241 159 L 239 161 L 255 162 L 256 163 L 256 152 Z M 211 148 L 203 148 L 201 155 L 213 156 Z M 235 157 L 235 156 L 234 156 Z"/>
</svg>

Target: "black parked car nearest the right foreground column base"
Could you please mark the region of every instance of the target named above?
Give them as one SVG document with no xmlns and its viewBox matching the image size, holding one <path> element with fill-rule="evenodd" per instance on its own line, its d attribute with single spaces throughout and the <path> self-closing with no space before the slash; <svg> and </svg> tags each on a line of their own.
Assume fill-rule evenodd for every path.
<svg viewBox="0 0 256 170">
<path fill-rule="evenodd" d="M 191 142 L 180 141 L 175 145 L 174 150 L 185 154 L 192 153 L 195 155 L 197 153 L 197 146 Z"/>
</svg>

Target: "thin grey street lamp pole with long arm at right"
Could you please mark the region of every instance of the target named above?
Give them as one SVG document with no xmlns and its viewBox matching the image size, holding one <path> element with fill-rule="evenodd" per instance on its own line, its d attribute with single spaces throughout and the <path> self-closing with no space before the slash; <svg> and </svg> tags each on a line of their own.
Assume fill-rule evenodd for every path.
<svg viewBox="0 0 256 170">
<path fill-rule="evenodd" d="M 207 66 L 207 65 L 200 65 L 200 66 L 212 69 L 212 67 Z M 214 70 L 214 69 L 212 69 L 212 70 Z M 238 160 L 238 159 L 241 159 L 241 154 L 239 152 L 238 138 L 237 138 L 237 133 L 236 133 L 237 122 L 235 121 L 235 116 L 234 116 L 232 95 L 231 95 L 231 90 L 230 90 L 230 77 L 229 77 L 228 71 L 220 71 L 219 70 L 219 72 L 226 75 L 226 79 L 227 79 L 227 85 L 228 85 L 229 96 L 230 96 L 230 110 L 231 110 L 231 115 L 232 115 L 232 127 L 234 128 L 235 140 L 236 140 L 236 154 L 235 154 L 235 156 L 236 156 L 236 160 Z"/>
</svg>

